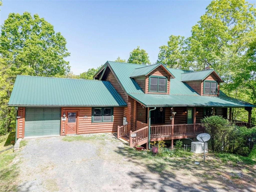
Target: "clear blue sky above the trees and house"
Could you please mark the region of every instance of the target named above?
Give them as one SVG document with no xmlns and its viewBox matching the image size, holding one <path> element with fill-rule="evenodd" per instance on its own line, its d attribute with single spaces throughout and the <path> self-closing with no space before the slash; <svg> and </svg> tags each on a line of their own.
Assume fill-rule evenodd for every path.
<svg viewBox="0 0 256 192">
<path fill-rule="evenodd" d="M 9 13 L 37 13 L 67 39 L 71 71 L 80 74 L 140 46 L 156 62 L 170 35 L 190 36 L 210 1 L 5 1 Z"/>
</svg>

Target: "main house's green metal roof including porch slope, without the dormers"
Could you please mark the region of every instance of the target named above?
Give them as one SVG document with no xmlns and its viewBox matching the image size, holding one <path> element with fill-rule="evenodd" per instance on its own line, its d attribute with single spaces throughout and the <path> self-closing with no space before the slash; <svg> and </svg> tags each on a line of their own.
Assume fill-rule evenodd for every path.
<svg viewBox="0 0 256 192">
<path fill-rule="evenodd" d="M 182 82 L 183 74 L 193 74 L 188 70 L 181 69 L 170 69 L 168 71 L 175 77 L 170 79 L 170 94 L 145 94 L 143 90 L 138 86 L 133 78 L 130 78 L 134 69 L 147 67 L 146 65 L 137 65 L 131 63 L 122 63 L 107 61 L 110 68 L 113 70 L 115 76 L 120 81 L 124 90 L 135 100 L 141 102 L 145 106 L 219 106 L 219 107 L 256 107 L 250 103 L 240 101 L 238 99 L 227 97 L 223 92 L 220 91 L 219 97 L 217 96 L 201 96 L 185 82 Z M 213 71 L 204 70 L 199 71 L 210 74 Z M 199 74 L 200 74 L 199 73 Z M 194 73 L 196 74 L 196 73 Z M 217 73 L 218 74 L 218 73 Z M 192 77 L 192 76 L 191 76 Z"/>
</svg>

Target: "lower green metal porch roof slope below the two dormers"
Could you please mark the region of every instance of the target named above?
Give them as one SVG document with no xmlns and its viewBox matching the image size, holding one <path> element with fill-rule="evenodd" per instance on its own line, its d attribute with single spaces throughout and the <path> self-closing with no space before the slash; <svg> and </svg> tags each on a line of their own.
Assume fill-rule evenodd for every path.
<svg viewBox="0 0 256 192">
<path fill-rule="evenodd" d="M 255 107 L 231 97 L 168 94 L 129 94 L 146 107 L 153 106 L 208 106 L 208 107 Z"/>
</svg>

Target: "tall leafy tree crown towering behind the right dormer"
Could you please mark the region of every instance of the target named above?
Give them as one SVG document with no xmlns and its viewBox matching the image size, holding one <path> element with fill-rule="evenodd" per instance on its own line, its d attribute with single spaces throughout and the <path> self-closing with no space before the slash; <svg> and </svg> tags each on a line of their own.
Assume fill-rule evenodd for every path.
<svg viewBox="0 0 256 192">
<path fill-rule="evenodd" d="M 212 1 L 188 38 L 192 68 L 210 66 L 229 82 L 230 66 L 237 63 L 255 36 L 255 13 L 253 5 L 244 0 Z"/>
</svg>

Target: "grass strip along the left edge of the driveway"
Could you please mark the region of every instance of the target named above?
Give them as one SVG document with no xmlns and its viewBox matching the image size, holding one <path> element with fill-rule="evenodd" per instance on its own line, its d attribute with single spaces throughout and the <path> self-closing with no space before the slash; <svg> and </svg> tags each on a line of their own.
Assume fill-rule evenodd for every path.
<svg viewBox="0 0 256 192">
<path fill-rule="evenodd" d="M 0 150 L 12 146 L 10 143 L 12 140 L 15 140 L 15 133 L 0 136 Z M 13 162 L 16 155 L 12 149 L 0 153 L 0 191 L 8 192 L 17 190 L 17 162 Z"/>
</svg>

